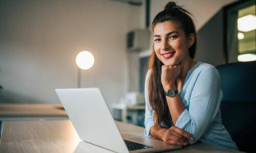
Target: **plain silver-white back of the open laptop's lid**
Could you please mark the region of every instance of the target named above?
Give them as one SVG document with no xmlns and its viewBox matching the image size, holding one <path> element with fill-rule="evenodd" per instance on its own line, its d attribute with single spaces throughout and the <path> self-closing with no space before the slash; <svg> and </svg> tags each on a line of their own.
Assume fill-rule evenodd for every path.
<svg viewBox="0 0 256 153">
<path fill-rule="evenodd" d="M 129 152 L 98 88 L 55 91 L 80 139 L 115 152 Z"/>
</svg>

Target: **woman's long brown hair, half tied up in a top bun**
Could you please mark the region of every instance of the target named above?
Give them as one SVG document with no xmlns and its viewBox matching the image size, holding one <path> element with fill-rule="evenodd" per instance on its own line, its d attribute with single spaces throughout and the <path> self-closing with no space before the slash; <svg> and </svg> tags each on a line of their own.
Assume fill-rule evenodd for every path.
<svg viewBox="0 0 256 153">
<path fill-rule="evenodd" d="M 173 21 L 177 23 L 185 35 L 188 37 L 189 34 L 195 34 L 195 43 L 189 48 L 189 56 L 194 59 L 197 47 L 197 36 L 195 24 L 189 16 L 187 10 L 180 6 L 177 6 L 175 2 L 169 2 L 165 5 L 164 10 L 159 12 L 152 22 L 152 31 L 157 23 L 164 21 Z M 161 67 L 163 63 L 157 58 L 154 45 L 150 60 L 148 61 L 148 69 L 150 70 L 150 76 L 148 78 L 148 95 L 152 111 L 155 111 L 155 126 L 161 126 L 160 123 L 163 121 L 167 127 L 173 125 L 172 116 L 170 115 L 166 97 L 164 95 L 164 89 L 161 83 Z"/>
</svg>

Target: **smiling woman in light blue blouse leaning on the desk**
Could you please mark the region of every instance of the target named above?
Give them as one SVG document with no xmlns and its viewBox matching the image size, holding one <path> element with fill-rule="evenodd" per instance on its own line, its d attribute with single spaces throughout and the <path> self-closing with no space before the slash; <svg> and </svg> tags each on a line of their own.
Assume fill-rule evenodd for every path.
<svg viewBox="0 0 256 153">
<path fill-rule="evenodd" d="M 218 70 L 193 60 L 197 36 L 189 14 L 169 2 L 152 22 L 144 133 L 174 145 L 202 141 L 238 149 L 222 124 Z"/>
</svg>

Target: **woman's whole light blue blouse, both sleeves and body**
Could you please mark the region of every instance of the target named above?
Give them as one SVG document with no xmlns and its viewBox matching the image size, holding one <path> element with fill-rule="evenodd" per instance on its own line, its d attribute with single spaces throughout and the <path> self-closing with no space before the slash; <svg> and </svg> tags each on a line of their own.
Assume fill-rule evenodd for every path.
<svg viewBox="0 0 256 153">
<path fill-rule="evenodd" d="M 150 71 L 146 74 L 145 82 L 145 130 L 144 135 L 150 135 L 150 128 L 154 125 L 154 111 L 151 111 L 147 92 L 147 80 Z M 185 110 L 176 121 L 177 127 L 190 133 L 194 137 L 193 144 L 202 141 L 222 147 L 237 149 L 222 124 L 220 103 L 223 93 L 220 87 L 218 70 L 203 62 L 197 62 L 188 72 L 184 85 L 179 93 Z M 162 126 L 166 125 L 161 122 Z"/>
</svg>

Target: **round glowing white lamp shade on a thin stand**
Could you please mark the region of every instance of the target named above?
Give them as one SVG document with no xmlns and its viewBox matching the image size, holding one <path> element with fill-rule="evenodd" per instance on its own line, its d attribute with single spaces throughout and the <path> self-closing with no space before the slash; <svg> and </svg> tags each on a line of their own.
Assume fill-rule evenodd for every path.
<svg viewBox="0 0 256 153">
<path fill-rule="evenodd" d="M 81 69 L 89 69 L 94 64 L 94 57 L 88 51 L 82 51 L 76 56 L 76 65 Z"/>
</svg>

